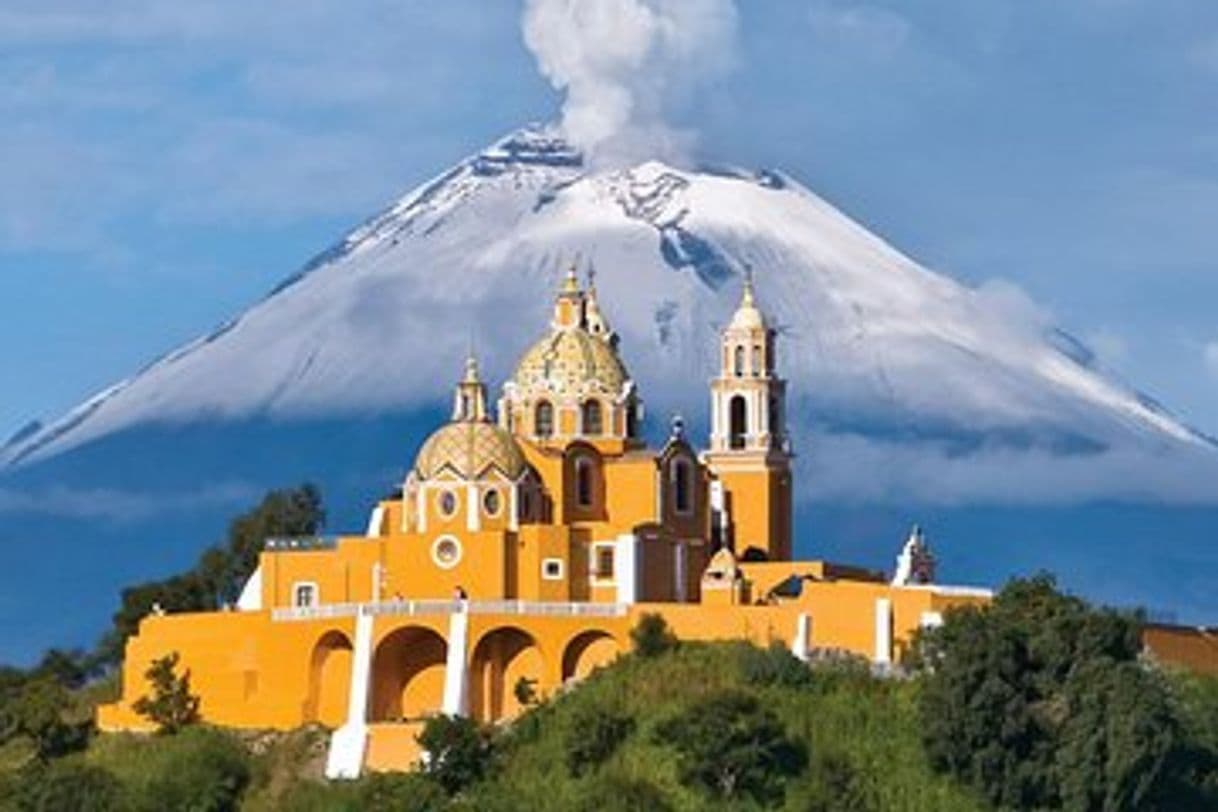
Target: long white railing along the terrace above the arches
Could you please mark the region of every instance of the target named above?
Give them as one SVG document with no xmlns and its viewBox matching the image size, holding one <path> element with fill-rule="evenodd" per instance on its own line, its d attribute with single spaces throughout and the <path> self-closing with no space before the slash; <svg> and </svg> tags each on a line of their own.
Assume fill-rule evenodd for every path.
<svg viewBox="0 0 1218 812">
<path fill-rule="evenodd" d="M 273 621 L 311 621 L 356 615 L 421 616 L 452 615 L 460 611 L 459 600 L 381 600 L 367 604 L 323 604 L 320 606 L 283 606 L 270 611 Z M 575 601 L 469 600 L 470 615 L 518 615 L 527 617 L 622 617 L 625 604 Z"/>
</svg>

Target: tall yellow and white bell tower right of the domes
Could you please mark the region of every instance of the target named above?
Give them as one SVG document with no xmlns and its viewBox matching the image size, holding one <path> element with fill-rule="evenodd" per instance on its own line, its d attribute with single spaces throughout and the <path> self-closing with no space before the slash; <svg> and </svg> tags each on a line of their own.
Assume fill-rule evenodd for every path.
<svg viewBox="0 0 1218 812">
<path fill-rule="evenodd" d="M 775 331 L 756 304 L 752 271 L 720 335 L 710 382 L 710 450 L 719 480 L 720 541 L 743 559 L 790 559 L 792 477 L 787 382 L 776 374 Z"/>
</svg>

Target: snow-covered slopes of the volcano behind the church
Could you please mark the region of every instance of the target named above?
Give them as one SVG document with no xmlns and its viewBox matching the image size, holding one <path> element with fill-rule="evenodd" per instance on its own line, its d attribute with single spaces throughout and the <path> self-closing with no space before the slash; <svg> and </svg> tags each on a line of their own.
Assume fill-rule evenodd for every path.
<svg viewBox="0 0 1218 812">
<path fill-rule="evenodd" d="M 1199 478 L 1218 475 L 1213 443 L 1097 369 L 1017 289 L 932 273 L 782 174 L 591 173 L 542 128 L 410 192 L 0 463 L 149 422 L 436 403 L 471 343 L 502 380 L 576 257 L 598 271 L 653 418 L 703 416 L 715 331 L 754 269 L 782 327 L 809 493 L 1218 499 Z"/>
</svg>

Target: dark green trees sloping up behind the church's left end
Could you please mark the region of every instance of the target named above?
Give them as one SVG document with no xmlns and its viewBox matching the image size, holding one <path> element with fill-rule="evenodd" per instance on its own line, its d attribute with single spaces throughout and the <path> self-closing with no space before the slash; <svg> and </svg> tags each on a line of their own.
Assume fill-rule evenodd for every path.
<svg viewBox="0 0 1218 812">
<path fill-rule="evenodd" d="M 236 600 L 258 566 L 266 539 L 313 536 L 324 523 L 322 494 L 314 486 L 270 491 L 256 508 L 233 520 L 227 542 L 205 550 L 194 569 L 123 589 L 113 627 L 97 646 L 97 661 L 118 665 L 127 638 L 153 605 L 167 612 L 208 611 Z"/>
</svg>

